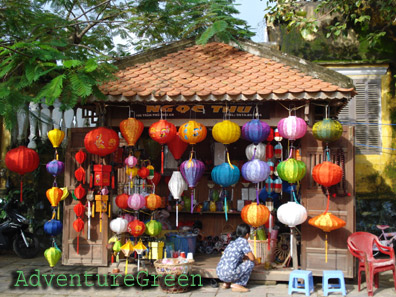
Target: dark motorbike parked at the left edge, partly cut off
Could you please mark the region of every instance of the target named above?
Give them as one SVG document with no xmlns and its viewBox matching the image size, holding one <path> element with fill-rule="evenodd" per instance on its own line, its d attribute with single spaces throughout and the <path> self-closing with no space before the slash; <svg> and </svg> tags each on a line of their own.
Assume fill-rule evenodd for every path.
<svg viewBox="0 0 396 297">
<path fill-rule="evenodd" d="M 39 252 L 39 240 L 28 232 L 29 220 L 15 206 L 15 199 L 7 202 L 0 199 L 5 219 L 0 224 L 0 249 L 13 249 L 18 257 L 34 258 Z"/>
</svg>

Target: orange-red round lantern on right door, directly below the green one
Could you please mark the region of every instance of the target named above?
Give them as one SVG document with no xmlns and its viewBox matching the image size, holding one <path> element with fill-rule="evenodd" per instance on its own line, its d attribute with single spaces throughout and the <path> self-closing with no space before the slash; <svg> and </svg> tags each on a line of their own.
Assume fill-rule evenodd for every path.
<svg viewBox="0 0 396 297">
<path fill-rule="evenodd" d="M 325 161 L 312 169 L 314 181 L 326 188 L 338 184 L 342 180 L 342 168 L 334 163 Z"/>
</svg>

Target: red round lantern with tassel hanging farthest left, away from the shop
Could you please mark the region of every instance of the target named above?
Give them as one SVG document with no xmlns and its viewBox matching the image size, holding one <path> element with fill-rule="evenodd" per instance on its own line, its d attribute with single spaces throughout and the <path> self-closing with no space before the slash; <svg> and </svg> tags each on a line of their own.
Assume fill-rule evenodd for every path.
<svg viewBox="0 0 396 297">
<path fill-rule="evenodd" d="M 34 171 L 39 165 L 39 156 L 26 146 L 19 146 L 7 152 L 5 156 L 6 167 L 13 172 L 20 174 L 21 176 L 25 173 Z M 21 188 L 20 188 L 20 201 L 22 202 L 23 193 L 23 181 L 21 177 Z"/>
</svg>

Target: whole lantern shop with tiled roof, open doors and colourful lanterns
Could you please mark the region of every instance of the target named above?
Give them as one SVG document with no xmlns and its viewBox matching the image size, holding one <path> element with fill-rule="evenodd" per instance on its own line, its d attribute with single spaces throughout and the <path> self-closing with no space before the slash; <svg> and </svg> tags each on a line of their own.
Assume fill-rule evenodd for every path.
<svg viewBox="0 0 396 297">
<path fill-rule="evenodd" d="M 251 279 L 353 277 L 354 130 L 337 121 L 353 84 L 242 45 L 180 41 L 125 58 L 101 86 L 108 99 L 81 106 L 92 127 L 67 135 L 64 265 L 154 271 L 185 256 L 216 278 L 246 222 L 261 259 Z"/>
</svg>

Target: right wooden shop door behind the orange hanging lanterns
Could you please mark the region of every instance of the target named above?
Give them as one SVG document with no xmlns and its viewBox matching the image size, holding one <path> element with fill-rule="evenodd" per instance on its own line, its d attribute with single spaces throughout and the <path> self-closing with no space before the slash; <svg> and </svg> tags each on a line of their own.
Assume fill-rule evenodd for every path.
<svg viewBox="0 0 396 297">
<path fill-rule="evenodd" d="M 323 270 L 342 270 L 345 277 L 354 276 L 354 260 L 347 248 L 347 238 L 355 231 L 355 163 L 354 127 L 344 126 L 342 137 L 329 145 L 333 162 L 339 159 L 342 149 L 345 162 L 346 190 L 350 196 L 337 195 L 330 198 L 329 212 L 346 221 L 346 226 L 328 233 L 328 262 L 325 263 L 325 233 L 308 224 L 301 227 L 301 266 L 320 276 Z M 316 140 L 311 129 L 301 142 L 302 161 L 307 165 L 307 174 L 302 180 L 302 201 L 307 208 L 308 219 L 326 209 L 327 198 L 321 187 L 312 178 L 312 168 L 323 162 L 322 142 Z M 337 154 L 338 151 L 338 154 Z M 342 162 L 341 162 L 342 163 Z M 341 185 L 337 187 L 340 188 Z M 341 189 L 338 189 L 338 192 Z"/>
</svg>

